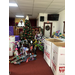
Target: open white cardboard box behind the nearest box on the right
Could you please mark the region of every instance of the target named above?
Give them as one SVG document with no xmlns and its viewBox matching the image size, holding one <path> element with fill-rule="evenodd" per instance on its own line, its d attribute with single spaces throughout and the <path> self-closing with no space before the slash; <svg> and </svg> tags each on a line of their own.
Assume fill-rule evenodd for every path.
<svg viewBox="0 0 75 75">
<path fill-rule="evenodd" d="M 51 67 L 53 42 L 62 42 L 62 41 L 60 39 L 54 39 L 54 38 L 49 38 L 44 40 L 44 59 L 49 67 Z"/>
</svg>

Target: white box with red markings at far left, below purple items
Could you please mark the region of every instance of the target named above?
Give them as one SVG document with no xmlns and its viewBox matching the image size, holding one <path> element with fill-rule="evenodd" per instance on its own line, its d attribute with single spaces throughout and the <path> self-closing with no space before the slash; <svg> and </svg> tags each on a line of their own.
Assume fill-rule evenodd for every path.
<svg viewBox="0 0 75 75">
<path fill-rule="evenodd" d="M 15 36 L 9 36 L 9 56 L 13 56 L 13 51 L 15 50 Z"/>
</svg>

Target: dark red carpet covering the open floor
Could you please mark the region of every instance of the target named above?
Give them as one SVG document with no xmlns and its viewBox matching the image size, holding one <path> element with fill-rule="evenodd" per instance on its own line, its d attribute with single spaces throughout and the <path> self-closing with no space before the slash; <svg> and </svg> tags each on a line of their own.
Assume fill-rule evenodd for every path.
<svg viewBox="0 0 75 75">
<path fill-rule="evenodd" d="M 9 71 L 11 75 L 53 75 L 40 50 L 37 50 L 37 59 L 34 61 L 22 62 L 20 65 L 9 63 Z"/>
</svg>

